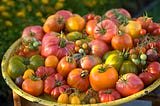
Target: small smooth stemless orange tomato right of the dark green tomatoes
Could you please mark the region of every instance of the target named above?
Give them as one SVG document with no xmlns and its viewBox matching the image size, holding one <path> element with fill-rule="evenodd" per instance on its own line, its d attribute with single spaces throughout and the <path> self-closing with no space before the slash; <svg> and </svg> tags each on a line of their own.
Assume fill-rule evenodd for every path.
<svg viewBox="0 0 160 106">
<path fill-rule="evenodd" d="M 45 59 L 45 66 L 56 68 L 58 65 L 58 58 L 55 55 L 49 55 Z"/>
</svg>

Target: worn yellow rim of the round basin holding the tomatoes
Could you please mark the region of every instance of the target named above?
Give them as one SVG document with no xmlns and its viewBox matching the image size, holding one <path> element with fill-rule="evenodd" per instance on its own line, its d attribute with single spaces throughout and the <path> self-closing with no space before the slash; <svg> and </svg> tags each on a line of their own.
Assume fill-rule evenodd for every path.
<svg viewBox="0 0 160 106">
<path fill-rule="evenodd" d="M 6 51 L 6 53 L 3 56 L 2 62 L 1 62 L 1 68 L 2 68 L 2 76 L 4 78 L 4 80 L 6 81 L 6 83 L 8 84 L 8 86 L 16 93 L 18 94 L 20 97 L 30 101 L 31 103 L 37 104 L 36 106 L 74 106 L 72 104 L 58 104 L 56 102 L 56 100 L 53 100 L 51 98 L 47 98 L 44 95 L 40 96 L 40 97 L 35 97 L 32 96 L 26 92 L 24 92 L 22 89 L 20 89 L 10 78 L 10 76 L 7 73 L 7 66 L 8 66 L 8 61 L 10 59 L 10 57 L 14 54 L 16 48 L 20 45 L 21 43 L 21 38 L 18 39 L 17 41 L 15 41 L 10 47 L 9 49 Z M 157 79 L 154 83 L 152 83 L 150 86 L 148 86 L 147 88 L 131 95 L 125 98 L 121 98 L 118 100 L 114 100 L 111 102 L 107 102 L 107 103 L 97 103 L 97 104 L 92 104 L 92 106 L 115 106 L 115 105 L 120 105 L 120 104 L 124 104 L 130 101 L 133 101 L 137 98 L 140 98 L 144 95 L 147 95 L 148 93 L 150 93 L 151 91 L 153 91 L 155 88 L 157 88 L 160 85 L 160 78 Z M 81 104 L 81 105 L 76 105 L 76 106 L 91 106 L 91 104 Z"/>
</svg>

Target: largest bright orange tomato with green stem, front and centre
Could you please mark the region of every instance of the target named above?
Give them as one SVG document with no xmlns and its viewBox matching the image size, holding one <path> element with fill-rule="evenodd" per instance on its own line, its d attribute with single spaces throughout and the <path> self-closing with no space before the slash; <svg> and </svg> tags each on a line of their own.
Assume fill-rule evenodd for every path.
<svg viewBox="0 0 160 106">
<path fill-rule="evenodd" d="M 118 80 L 118 72 L 114 67 L 99 64 L 92 68 L 89 80 L 91 87 L 96 91 L 114 88 Z"/>
</svg>

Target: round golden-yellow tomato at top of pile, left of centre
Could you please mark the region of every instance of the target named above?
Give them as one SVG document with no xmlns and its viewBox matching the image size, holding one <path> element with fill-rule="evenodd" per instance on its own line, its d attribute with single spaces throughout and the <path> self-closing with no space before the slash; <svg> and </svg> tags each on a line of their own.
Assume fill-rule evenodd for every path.
<svg viewBox="0 0 160 106">
<path fill-rule="evenodd" d="M 66 28 L 71 31 L 82 31 L 85 26 L 85 20 L 79 15 L 74 15 L 66 20 Z"/>
</svg>

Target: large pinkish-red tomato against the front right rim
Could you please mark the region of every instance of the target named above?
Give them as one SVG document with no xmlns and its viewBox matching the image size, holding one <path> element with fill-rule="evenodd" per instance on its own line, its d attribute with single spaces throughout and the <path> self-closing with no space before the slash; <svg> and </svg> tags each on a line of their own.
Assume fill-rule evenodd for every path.
<svg viewBox="0 0 160 106">
<path fill-rule="evenodd" d="M 122 96 L 129 96 L 144 88 L 143 81 L 133 73 L 124 74 L 116 83 L 116 89 Z"/>
</svg>

